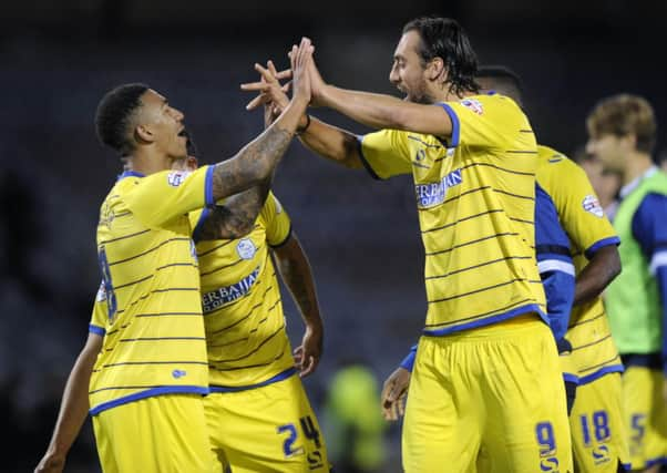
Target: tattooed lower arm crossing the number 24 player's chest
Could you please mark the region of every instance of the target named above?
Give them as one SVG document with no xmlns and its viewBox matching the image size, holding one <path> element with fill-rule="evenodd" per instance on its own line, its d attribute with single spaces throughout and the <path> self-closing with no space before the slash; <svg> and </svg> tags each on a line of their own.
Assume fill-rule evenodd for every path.
<svg viewBox="0 0 667 473">
<path fill-rule="evenodd" d="M 250 233 L 264 207 L 271 179 L 233 195 L 224 205 L 217 205 L 204 222 L 199 239 L 234 239 Z"/>
</svg>

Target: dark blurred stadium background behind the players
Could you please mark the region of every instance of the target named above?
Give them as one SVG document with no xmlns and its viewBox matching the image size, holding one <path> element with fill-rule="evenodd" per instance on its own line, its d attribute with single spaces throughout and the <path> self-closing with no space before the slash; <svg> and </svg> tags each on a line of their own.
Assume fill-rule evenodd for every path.
<svg viewBox="0 0 667 473">
<path fill-rule="evenodd" d="M 253 63 L 316 44 L 328 82 L 398 93 L 388 81 L 402 24 L 456 18 L 483 64 L 523 76 L 538 140 L 572 154 L 602 96 L 634 92 L 667 120 L 667 2 L 384 0 L 29 0 L 0 8 L 0 418 L 9 436 L 0 471 L 32 471 L 50 439 L 65 378 L 88 330 L 99 286 L 99 205 L 119 173 L 96 142 L 93 113 L 110 88 L 145 82 L 184 111 L 204 163 L 233 155 L 261 130 L 238 84 Z M 314 115 L 368 130 L 325 110 Z M 660 128 L 661 146 L 667 145 Z M 425 302 L 423 255 L 409 177 L 372 181 L 294 143 L 275 193 L 309 255 L 326 318 L 325 356 L 306 381 L 320 411 L 341 363 L 378 385 L 418 337 Z M 284 291 L 294 345 L 298 312 Z M 399 470 L 399 426 L 386 431 Z M 86 424 L 66 471 L 99 471 Z"/>
</svg>

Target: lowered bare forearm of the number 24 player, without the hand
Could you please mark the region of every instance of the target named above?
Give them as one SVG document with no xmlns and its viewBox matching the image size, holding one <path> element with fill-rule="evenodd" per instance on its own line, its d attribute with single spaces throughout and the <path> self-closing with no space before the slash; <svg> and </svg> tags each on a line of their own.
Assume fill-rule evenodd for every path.
<svg viewBox="0 0 667 473">
<path fill-rule="evenodd" d="M 285 245 L 276 248 L 274 255 L 283 280 L 297 304 L 304 321 L 307 325 L 321 326 L 310 264 L 296 234 L 293 233 Z"/>
</svg>

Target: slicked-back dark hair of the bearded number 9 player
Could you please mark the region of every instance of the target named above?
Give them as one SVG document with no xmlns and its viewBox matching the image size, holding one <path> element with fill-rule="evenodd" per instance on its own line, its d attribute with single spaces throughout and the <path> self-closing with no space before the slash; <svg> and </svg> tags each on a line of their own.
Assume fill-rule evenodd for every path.
<svg viewBox="0 0 667 473">
<path fill-rule="evenodd" d="M 475 82 L 478 56 L 463 28 L 451 18 L 420 17 L 403 27 L 403 34 L 417 31 L 421 38 L 419 55 L 422 64 L 441 58 L 448 70 L 448 82 L 455 94 L 479 92 Z"/>
</svg>

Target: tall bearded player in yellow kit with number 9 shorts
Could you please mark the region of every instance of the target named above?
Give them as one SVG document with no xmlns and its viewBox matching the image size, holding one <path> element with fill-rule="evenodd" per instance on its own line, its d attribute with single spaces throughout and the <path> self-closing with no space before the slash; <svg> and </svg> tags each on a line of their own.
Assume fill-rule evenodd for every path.
<svg viewBox="0 0 667 473">
<path fill-rule="evenodd" d="M 264 82 L 254 101 L 281 107 Z M 309 116 L 317 154 L 376 178 L 412 174 L 425 249 L 428 313 L 402 434 L 407 472 L 468 471 L 481 448 L 499 471 L 572 471 L 558 353 L 534 254 L 537 148 L 514 101 L 480 94 L 476 56 L 451 19 L 403 28 L 390 81 L 406 100 L 326 84 L 312 105 L 367 126 L 358 137 Z"/>
</svg>

